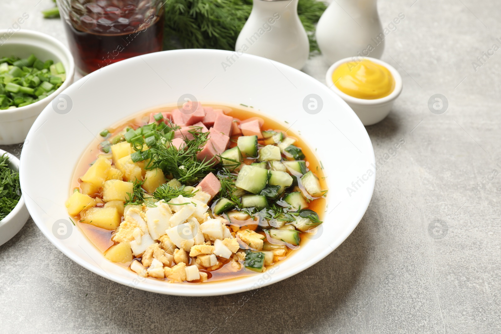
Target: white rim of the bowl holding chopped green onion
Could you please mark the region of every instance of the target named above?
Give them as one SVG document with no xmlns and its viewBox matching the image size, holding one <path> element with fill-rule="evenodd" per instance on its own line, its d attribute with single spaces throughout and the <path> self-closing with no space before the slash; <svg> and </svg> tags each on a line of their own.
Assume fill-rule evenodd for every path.
<svg viewBox="0 0 501 334">
<path fill-rule="evenodd" d="M 0 36 L 3 34 L 6 34 L 7 31 L 8 31 L 8 29 L 1 29 Z M 70 50 L 63 43 L 61 43 L 60 41 L 56 40 L 54 37 L 49 36 L 47 34 L 40 33 L 40 32 L 34 31 L 34 30 L 22 29 L 20 31 L 15 32 L 13 35 L 11 35 L 9 40 L 7 40 L 7 42 L 4 43 L 3 45 L 7 45 L 9 43 L 15 44 L 16 43 L 16 35 L 18 35 L 18 37 L 19 37 L 19 35 L 24 35 L 26 37 L 33 38 L 35 40 L 44 40 L 45 39 L 47 42 L 52 43 L 53 45 L 55 45 L 54 49 L 59 49 L 68 58 L 70 68 L 68 70 L 65 69 L 66 73 L 67 73 L 66 80 L 61 85 L 61 87 L 59 87 L 54 93 L 47 96 L 45 99 L 42 99 L 40 101 L 37 101 L 35 103 L 29 104 L 29 105 L 24 106 L 24 107 L 0 110 L 0 115 L 14 115 L 17 113 L 25 112 L 25 111 L 30 110 L 32 108 L 36 109 L 37 107 L 42 107 L 44 103 L 46 103 L 47 101 L 54 100 L 54 98 L 56 96 L 58 96 L 59 94 L 61 94 L 62 91 L 64 91 L 66 88 L 68 88 L 70 86 L 71 82 L 73 81 L 73 77 L 75 75 L 75 60 L 74 60 L 73 55 L 71 54 Z M 18 44 L 25 44 L 25 43 L 19 43 L 19 42 L 17 42 L 17 43 Z M 51 52 L 51 53 L 53 53 L 52 50 L 54 50 L 54 49 L 49 49 L 49 48 L 44 48 L 44 49 Z M 70 74 L 70 75 L 68 75 L 68 74 Z M 32 116 L 32 115 L 29 115 L 28 113 L 26 115 L 27 115 L 26 118 L 29 118 Z"/>
</svg>

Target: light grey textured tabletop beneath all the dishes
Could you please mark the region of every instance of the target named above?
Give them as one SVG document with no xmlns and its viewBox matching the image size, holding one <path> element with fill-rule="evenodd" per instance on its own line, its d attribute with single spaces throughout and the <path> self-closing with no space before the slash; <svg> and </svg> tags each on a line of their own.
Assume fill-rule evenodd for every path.
<svg viewBox="0 0 501 334">
<path fill-rule="evenodd" d="M 23 29 L 66 43 L 61 23 L 41 18 L 50 0 L 37 3 L 2 0 L 0 28 L 26 12 Z M 378 6 L 383 25 L 405 14 L 382 57 L 404 89 L 367 131 L 376 160 L 405 144 L 377 171 L 365 216 L 331 255 L 255 294 L 166 296 L 87 271 L 30 219 L 0 247 L 0 332 L 501 332 L 501 51 L 472 66 L 492 44 L 501 47 L 499 4 Z M 326 70 L 318 57 L 304 69 L 322 82 Z M 427 107 L 437 93 L 449 104 L 441 115 Z"/>
</svg>

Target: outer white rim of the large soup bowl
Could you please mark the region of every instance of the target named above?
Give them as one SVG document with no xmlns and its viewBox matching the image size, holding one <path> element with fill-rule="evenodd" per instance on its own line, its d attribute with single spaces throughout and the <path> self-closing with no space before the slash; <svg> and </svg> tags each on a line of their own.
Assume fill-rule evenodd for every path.
<svg viewBox="0 0 501 334">
<path fill-rule="evenodd" d="M 120 66 L 126 66 L 126 64 L 129 64 L 129 63 L 136 61 L 137 58 L 142 58 L 142 60 L 144 61 L 145 58 L 154 57 L 153 55 L 165 54 L 165 53 L 181 54 L 181 55 L 184 53 L 199 53 L 202 55 L 207 54 L 207 53 L 211 53 L 211 54 L 219 54 L 219 55 L 223 56 L 221 59 L 224 59 L 225 56 L 232 55 L 231 51 L 225 51 L 225 50 L 207 50 L 207 49 L 170 50 L 170 51 L 163 51 L 163 52 L 158 52 L 158 53 L 153 53 L 153 54 L 142 55 L 142 56 L 130 58 L 127 60 L 123 60 L 123 61 L 120 61 L 120 62 L 117 62 L 114 64 L 110 64 L 109 66 L 106 66 L 106 67 L 100 69 L 100 72 L 107 73 L 109 70 L 111 70 L 113 68 L 118 68 Z M 245 56 L 248 58 L 252 58 L 253 60 L 256 60 L 256 61 L 259 60 L 260 62 L 270 62 L 271 61 L 271 60 L 268 60 L 266 58 L 262 58 L 262 57 L 258 57 L 258 56 L 254 56 L 254 55 L 247 55 L 246 54 Z M 304 72 L 301 72 L 301 71 L 296 70 L 292 67 L 289 67 L 287 65 L 284 65 L 284 64 L 281 64 L 281 63 L 278 63 L 275 61 L 271 61 L 271 62 L 278 69 L 283 69 L 283 70 L 289 69 L 290 71 L 297 71 L 296 73 L 298 74 L 298 76 L 301 76 L 304 79 L 309 80 L 309 81 L 317 82 L 317 80 L 315 78 L 307 75 Z M 93 74 L 90 74 L 90 75 L 93 75 Z M 94 75 L 96 75 L 96 74 L 94 74 Z M 86 77 L 81 78 L 77 82 L 73 83 L 70 87 L 72 87 L 72 86 L 79 87 L 81 82 L 85 82 L 86 80 L 88 80 L 88 78 L 86 78 Z M 365 140 L 367 140 L 368 143 L 370 144 L 368 146 L 368 148 L 370 150 L 370 152 L 368 152 L 368 154 L 369 154 L 371 162 L 374 163 L 375 162 L 374 149 L 373 149 L 372 143 L 370 141 L 370 137 L 369 137 L 367 131 L 365 130 L 365 127 L 363 126 L 362 122 L 357 117 L 357 115 L 353 112 L 351 107 L 349 107 L 349 105 L 345 101 L 343 101 L 338 95 L 336 95 L 333 91 L 329 90 L 325 85 L 322 85 L 321 83 L 317 83 L 317 84 L 319 85 L 318 86 L 319 89 L 325 90 L 325 93 L 332 96 L 332 98 L 334 100 L 338 101 L 338 103 L 340 103 L 341 105 L 344 104 L 347 111 L 351 111 L 350 117 L 353 119 L 353 122 L 358 123 L 360 128 L 363 129 L 364 132 L 362 132 L 362 134 L 365 137 Z M 68 88 L 68 89 L 70 89 L 70 88 Z M 51 112 L 50 108 L 51 108 L 50 106 L 47 106 L 44 109 L 44 111 L 42 112 L 42 114 L 49 114 Z M 42 121 L 43 121 L 43 119 L 39 117 L 35 123 L 42 122 Z M 35 128 L 32 127 L 27 138 L 30 138 L 35 131 L 36 131 Z M 27 152 L 28 151 L 26 151 L 26 150 L 22 151 L 22 155 L 21 155 L 22 161 L 25 160 Z M 23 167 L 23 166 L 24 165 L 22 164 L 21 165 L 21 182 L 22 183 L 23 183 L 23 180 L 28 177 L 27 176 L 28 174 L 26 174 L 24 172 L 26 167 Z M 125 275 L 117 275 L 117 274 L 110 275 L 106 271 L 104 271 L 102 268 L 100 268 L 99 266 L 92 264 L 91 261 L 88 261 L 88 260 L 82 258 L 81 256 L 79 256 L 77 253 L 75 253 L 71 249 L 67 249 L 67 247 L 63 243 L 60 242 L 61 240 L 57 239 L 53 234 L 51 234 L 49 229 L 47 229 L 45 226 L 42 226 L 43 218 L 40 216 L 39 211 L 36 209 L 37 203 L 30 199 L 27 201 L 27 207 L 28 207 L 29 211 L 30 211 L 30 209 L 31 209 L 31 211 L 33 211 L 33 213 L 32 212 L 30 212 L 30 213 L 32 214 L 32 218 L 33 218 L 34 222 L 40 228 L 42 233 L 49 239 L 49 241 L 51 241 L 51 243 L 53 243 L 63 254 L 65 254 L 66 256 L 71 258 L 73 261 L 75 261 L 76 263 L 78 263 L 82 267 L 86 268 L 87 270 L 102 276 L 103 278 L 109 279 L 111 281 L 114 281 L 114 282 L 117 282 L 117 283 L 120 283 L 120 284 L 123 284 L 126 286 L 134 287 L 134 288 L 137 288 L 140 290 L 161 293 L 161 294 L 180 295 L 180 296 L 213 296 L 213 295 L 225 295 L 225 294 L 232 294 L 232 293 L 249 291 L 252 289 L 256 289 L 259 287 L 263 287 L 263 286 L 267 286 L 267 285 L 279 282 L 279 281 L 284 280 L 286 278 L 289 278 L 293 275 L 296 275 L 297 273 L 300 273 L 301 271 L 306 270 L 307 268 L 311 267 L 312 265 L 318 263 L 320 260 L 325 258 L 327 255 L 331 254 L 342 242 L 344 242 L 346 240 L 346 238 L 353 232 L 353 230 L 358 226 L 360 220 L 363 218 L 363 216 L 364 216 L 364 214 L 369 206 L 369 203 L 372 199 L 373 192 L 374 192 L 375 177 L 370 178 L 370 180 L 371 180 L 371 182 L 367 183 L 368 184 L 368 187 L 366 188 L 367 192 L 364 191 L 365 195 L 361 199 L 361 201 L 359 202 L 359 203 L 361 203 L 360 210 L 352 218 L 353 222 L 350 224 L 349 228 L 344 229 L 337 236 L 337 238 L 330 239 L 330 240 L 332 240 L 332 242 L 329 243 L 330 247 L 326 247 L 326 249 L 324 251 L 318 252 L 317 254 L 313 255 L 311 258 L 309 258 L 309 261 L 303 262 L 300 266 L 298 266 L 295 269 L 286 270 L 284 272 L 281 272 L 279 269 L 279 271 L 276 274 L 274 274 L 270 280 L 265 281 L 264 283 L 259 284 L 258 286 L 255 286 L 256 283 L 255 284 L 238 283 L 238 284 L 225 284 L 225 287 L 221 287 L 221 285 L 222 285 L 221 282 L 227 283 L 227 281 L 217 281 L 217 282 L 213 283 L 213 284 L 218 284 L 218 286 L 215 286 L 213 284 L 207 284 L 207 286 L 204 289 L 184 289 L 184 288 L 174 287 L 174 286 L 178 286 L 178 284 L 182 284 L 182 283 L 165 284 L 165 286 L 162 286 L 162 287 L 158 287 L 154 284 L 148 284 L 147 282 L 146 283 L 140 282 L 138 284 L 131 285 L 130 280 L 128 280 Z M 262 273 L 261 275 L 264 275 L 264 274 L 266 274 L 266 272 Z M 258 279 L 263 279 L 260 277 L 262 277 L 262 276 L 257 276 L 256 281 L 258 281 Z M 239 279 L 243 280 L 243 279 L 246 279 L 246 277 L 242 277 Z"/>
</svg>

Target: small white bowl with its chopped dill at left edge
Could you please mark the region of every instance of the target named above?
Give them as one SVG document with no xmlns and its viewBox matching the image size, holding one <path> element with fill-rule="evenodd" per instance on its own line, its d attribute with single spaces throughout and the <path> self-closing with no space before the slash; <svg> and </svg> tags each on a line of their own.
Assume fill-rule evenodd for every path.
<svg viewBox="0 0 501 334">
<path fill-rule="evenodd" d="M 19 159 L 0 150 L 0 245 L 15 236 L 29 216 L 19 184 Z"/>
</svg>

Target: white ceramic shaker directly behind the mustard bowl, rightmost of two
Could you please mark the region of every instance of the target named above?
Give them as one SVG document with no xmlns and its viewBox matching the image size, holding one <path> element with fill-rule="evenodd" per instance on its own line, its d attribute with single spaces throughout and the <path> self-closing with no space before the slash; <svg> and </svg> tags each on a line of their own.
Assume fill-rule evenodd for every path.
<svg viewBox="0 0 501 334">
<path fill-rule="evenodd" d="M 333 1 L 318 22 L 316 37 L 329 65 L 354 56 L 381 58 L 385 35 L 377 0 Z"/>
</svg>

